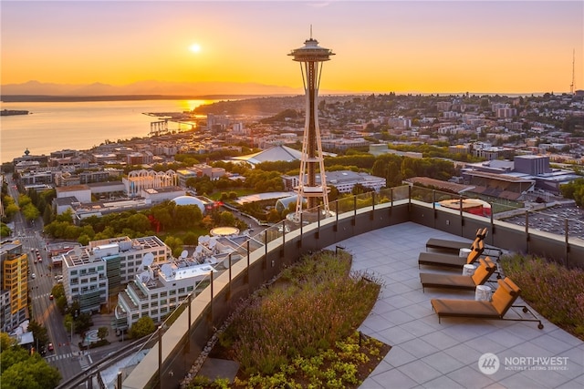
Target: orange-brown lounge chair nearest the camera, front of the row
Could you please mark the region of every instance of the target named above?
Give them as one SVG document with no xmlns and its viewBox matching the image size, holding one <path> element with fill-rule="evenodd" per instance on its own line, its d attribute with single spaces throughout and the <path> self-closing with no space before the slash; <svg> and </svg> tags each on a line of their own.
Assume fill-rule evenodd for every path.
<svg viewBox="0 0 584 389">
<path fill-rule="evenodd" d="M 531 312 L 526 305 L 513 305 L 521 290 L 515 282 L 508 277 L 505 280 L 497 280 L 499 287 L 493 293 L 492 301 L 432 299 L 432 308 L 438 314 L 438 322 L 443 317 L 470 317 L 474 319 L 512 320 L 520 322 L 539 322 L 537 328 L 544 328 L 541 320 Z M 529 312 L 533 319 L 525 318 L 518 314 L 518 318 L 505 318 L 505 314 L 511 308 L 522 308 L 523 312 Z"/>
</svg>

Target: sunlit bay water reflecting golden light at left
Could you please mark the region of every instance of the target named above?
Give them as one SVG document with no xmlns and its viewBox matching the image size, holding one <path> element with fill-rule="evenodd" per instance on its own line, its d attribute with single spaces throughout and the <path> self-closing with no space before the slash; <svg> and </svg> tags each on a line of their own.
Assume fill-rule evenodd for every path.
<svg viewBox="0 0 584 389">
<path fill-rule="evenodd" d="M 0 161 L 11 162 L 28 149 L 48 155 L 66 148 L 86 150 L 106 140 L 148 137 L 158 118 L 146 112 L 183 112 L 217 100 L 132 100 L 2 103 L 0 109 L 29 115 L 0 117 Z M 169 129 L 179 128 L 169 122 Z"/>
</svg>

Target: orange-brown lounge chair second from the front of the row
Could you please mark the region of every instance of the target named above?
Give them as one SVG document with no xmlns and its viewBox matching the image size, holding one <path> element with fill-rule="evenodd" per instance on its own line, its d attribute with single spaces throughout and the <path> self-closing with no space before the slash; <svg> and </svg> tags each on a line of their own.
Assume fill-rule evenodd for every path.
<svg viewBox="0 0 584 389">
<path fill-rule="evenodd" d="M 422 291 L 425 288 L 448 288 L 471 290 L 476 289 L 476 285 L 483 285 L 488 281 L 496 270 L 495 262 L 489 257 L 479 258 L 479 266 L 473 275 L 443 274 L 443 273 L 420 273 Z"/>
</svg>

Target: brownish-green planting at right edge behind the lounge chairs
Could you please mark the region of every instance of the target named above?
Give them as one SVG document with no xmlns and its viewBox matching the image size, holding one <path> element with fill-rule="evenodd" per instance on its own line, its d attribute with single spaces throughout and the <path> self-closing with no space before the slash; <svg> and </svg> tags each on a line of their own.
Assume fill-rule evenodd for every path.
<svg viewBox="0 0 584 389">
<path fill-rule="evenodd" d="M 501 266 L 521 288 L 523 300 L 584 341 L 584 271 L 520 254 L 503 256 Z"/>
</svg>

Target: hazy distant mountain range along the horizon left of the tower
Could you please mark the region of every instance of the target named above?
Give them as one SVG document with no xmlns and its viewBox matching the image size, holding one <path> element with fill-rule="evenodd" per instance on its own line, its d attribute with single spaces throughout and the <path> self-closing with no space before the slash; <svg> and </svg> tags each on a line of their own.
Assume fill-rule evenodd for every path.
<svg viewBox="0 0 584 389">
<path fill-rule="evenodd" d="M 3 101 L 17 101 L 18 97 L 121 97 L 121 96 L 168 96 L 168 97 L 208 97 L 226 95 L 300 95 L 302 88 L 278 87 L 257 83 L 234 82 L 163 82 L 139 81 L 123 86 L 102 83 L 89 85 L 53 84 L 28 81 L 22 84 L 0 86 Z"/>
</svg>

